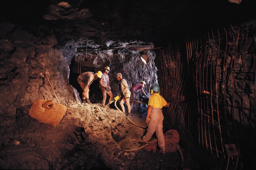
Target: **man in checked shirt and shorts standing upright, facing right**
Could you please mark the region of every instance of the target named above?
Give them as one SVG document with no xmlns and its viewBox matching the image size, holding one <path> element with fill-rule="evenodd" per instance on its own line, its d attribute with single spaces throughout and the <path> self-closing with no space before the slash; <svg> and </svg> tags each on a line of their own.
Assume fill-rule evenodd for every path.
<svg viewBox="0 0 256 170">
<path fill-rule="evenodd" d="M 109 86 L 109 76 L 108 73 L 110 71 L 110 68 L 108 66 L 104 67 L 104 72 L 102 73 L 101 79 L 99 80 L 99 89 L 102 92 L 102 105 L 105 106 L 106 104 L 106 99 L 107 99 L 107 94 L 109 95 L 109 100 L 112 101 L 113 99 L 113 93 L 111 92 L 111 88 Z"/>
</svg>

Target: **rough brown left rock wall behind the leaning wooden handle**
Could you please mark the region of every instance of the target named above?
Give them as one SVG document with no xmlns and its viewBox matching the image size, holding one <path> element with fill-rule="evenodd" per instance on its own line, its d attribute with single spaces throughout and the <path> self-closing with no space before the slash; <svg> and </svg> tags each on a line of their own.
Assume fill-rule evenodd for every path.
<svg viewBox="0 0 256 170">
<path fill-rule="evenodd" d="M 67 81 L 70 59 L 63 56 L 55 35 L 45 28 L 7 22 L 0 26 L 0 106 L 5 108 L 0 111 L 4 115 L 2 125 L 9 126 L 9 119 L 15 120 L 17 116 L 17 108 L 27 112 L 22 108 L 31 106 L 33 101 L 73 101 L 72 87 Z"/>
</svg>

